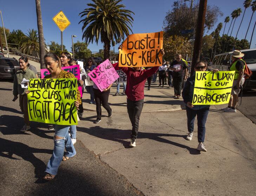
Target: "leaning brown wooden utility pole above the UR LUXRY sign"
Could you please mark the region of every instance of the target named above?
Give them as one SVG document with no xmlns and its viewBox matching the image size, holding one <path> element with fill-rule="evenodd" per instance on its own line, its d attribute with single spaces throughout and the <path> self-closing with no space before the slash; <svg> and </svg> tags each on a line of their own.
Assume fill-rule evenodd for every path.
<svg viewBox="0 0 256 196">
<path fill-rule="evenodd" d="M 197 16 L 197 25 L 196 25 L 196 37 L 195 37 L 195 44 L 194 44 L 193 57 L 192 57 L 191 76 L 194 73 L 194 68 L 196 63 L 200 59 L 206 8 L 207 8 L 207 0 L 200 0 L 198 16 Z"/>
</svg>

